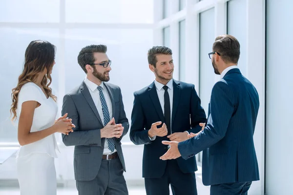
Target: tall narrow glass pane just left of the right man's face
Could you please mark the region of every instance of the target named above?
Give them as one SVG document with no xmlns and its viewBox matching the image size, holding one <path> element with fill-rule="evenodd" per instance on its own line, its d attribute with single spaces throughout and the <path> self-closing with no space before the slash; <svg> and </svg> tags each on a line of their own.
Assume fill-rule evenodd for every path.
<svg viewBox="0 0 293 195">
<path fill-rule="evenodd" d="M 200 44 L 199 44 L 199 97 L 201 106 L 208 116 L 209 100 L 211 89 L 214 85 L 214 70 L 209 59 L 209 52 L 212 51 L 212 44 L 215 39 L 214 8 L 199 14 L 200 17 Z M 199 154 L 199 161 L 202 159 L 202 152 Z"/>
</svg>

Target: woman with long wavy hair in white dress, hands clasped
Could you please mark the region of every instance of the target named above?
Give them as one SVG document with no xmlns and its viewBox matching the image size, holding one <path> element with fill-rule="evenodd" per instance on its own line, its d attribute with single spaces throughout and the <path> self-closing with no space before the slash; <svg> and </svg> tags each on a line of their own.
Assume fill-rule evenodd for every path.
<svg viewBox="0 0 293 195">
<path fill-rule="evenodd" d="M 58 149 L 54 133 L 75 127 L 67 114 L 55 121 L 56 97 L 49 87 L 55 64 L 55 46 L 34 40 L 25 51 L 24 68 L 12 89 L 12 120 L 21 145 L 16 164 L 21 195 L 56 195 L 54 158 Z"/>
</svg>

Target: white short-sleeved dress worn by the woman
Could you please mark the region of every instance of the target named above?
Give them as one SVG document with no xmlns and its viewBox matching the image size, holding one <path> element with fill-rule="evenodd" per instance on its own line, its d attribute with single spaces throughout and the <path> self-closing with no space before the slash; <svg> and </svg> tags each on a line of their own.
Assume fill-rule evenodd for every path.
<svg viewBox="0 0 293 195">
<path fill-rule="evenodd" d="M 21 105 L 25 101 L 38 101 L 41 106 L 35 109 L 30 132 L 47 129 L 54 124 L 58 106 L 53 98 L 46 98 L 42 89 L 33 82 L 21 87 L 17 116 L 20 117 Z M 16 120 L 18 128 L 19 120 Z M 17 175 L 21 195 L 56 195 L 57 181 L 54 158 L 59 151 L 55 135 L 21 146 L 16 156 Z"/>
</svg>

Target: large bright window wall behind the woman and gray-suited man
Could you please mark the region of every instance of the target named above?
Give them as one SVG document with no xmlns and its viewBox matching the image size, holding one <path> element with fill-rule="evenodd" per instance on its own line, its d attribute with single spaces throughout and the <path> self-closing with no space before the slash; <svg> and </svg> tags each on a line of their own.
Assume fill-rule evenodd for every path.
<svg viewBox="0 0 293 195">
<path fill-rule="evenodd" d="M 126 117 L 131 123 L 133 92 L 153 81 L 153 73 L 148 69 L 146 57 L 147 50 L 153 46 L 153 29 L 152 25 L 149 25 L 153 23 L 153 1 L 113 0 L 109 4 L 108 1 L 103 0 L 63 0 L 65 1 L 64 10 L 60 10 L 60 0 L 42 2 L 26 0 L 25 3 L 16 1 L 4 0 L 3 6 L 0 7 L 0 22 L 4 22 L 4 27 L 0 26 L 0 37 L 3 38 L 0 61 L 5 64 L 1 66 L 0 81 L 6 83 L 1 87 L 3 96 L 0 98 L 0 134 L 2 135 L 0 142 L 18 142 L 17 130 L 10 121 L 11 89 L 16 86 L 22 71 L 24 51 L 30 41 L 35 39 L 48 40 L 57 47 L 56 65 L 52 71 L 50 86 L 58 97 L 58 117 L 61 115 L 60 105 L 63 100 L 61 95 L 79 86 L 85 78 L 83 70 L 77 63 L 78 53 L 89 44 L 106 44 L 107 55 L 112 60 L 109 82 L 121 87 Z M 13 11 L 10 10 L 11 7 Z M 43 10 L 40 7 L 48 9 Z M 39 13 L 40 10 L 42 12 Z M 60 12 L 65 15 L 65 23 L 59 21 Z M 101 13 L 103 17 L 100 17 Z M 38 17 L 35 17 L 36 14 Z M 9 22 L 19 23 L 10 24 Z M 21 22 L 27 22 L 28 27 L 23 27 Z M 40 27 L 34 22 L 40 23 Z M 49 25 L 52 27 L 48 28 L 46 22 L 51 22 Z M 59 25 L 60 22 L 62 22 L 61 25 Z M 72 22 L 77 24 L 74 28 L 67 28 L 66 24 Z M 87 24 L 85 28 L 86 23 L 93 24 L 92 26 Z M 105 28 L 95 28 L 94 23 L 106 25 Z M 121 25 L 116 28 L 116 24 Z M 140 25 L 137 24 L 140 24 L 142 28 L 139 28 Z M 60 26 L 65 27 L 64 39 L 60 37 Z M 111 27 L 107 28 L 107 26 Z M 166 36 L 169 42 L 169 32 Z M 142 37 L 144 39 L 141 39 Z M 65 71 L 60 69 L 61 66 L 64 66 Z M 144 74 L 138 74 L 142 72 Z M 65 78 L 65 82 L 59 82 L 59 78 Z M 133 80 L 141 80 L 141 82 L 133 82 Z M 59 85 L 64 85 L 65 89 L 63 90 L 63 87 Z M 61 141 L 60 134 L 57 139 Z M 129 135 L 123 139 L 123 142 L 127 141 L 130 141 Z"/>
</svg>

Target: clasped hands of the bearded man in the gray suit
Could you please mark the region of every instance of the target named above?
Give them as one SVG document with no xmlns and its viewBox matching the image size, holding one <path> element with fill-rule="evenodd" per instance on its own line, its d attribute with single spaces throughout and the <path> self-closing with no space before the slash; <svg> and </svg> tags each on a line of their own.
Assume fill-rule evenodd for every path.
<svg viewBox="0 0 293 195">
<path fill-rule="evenodd" d="M 112 118 L 106 126 L 101 129 L 101 138 L 121 137 L 124 127 L 122 124 L 115 124 L 115 119 Z"/>
</svg>

